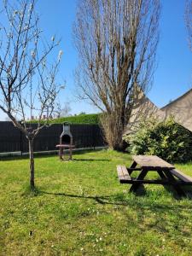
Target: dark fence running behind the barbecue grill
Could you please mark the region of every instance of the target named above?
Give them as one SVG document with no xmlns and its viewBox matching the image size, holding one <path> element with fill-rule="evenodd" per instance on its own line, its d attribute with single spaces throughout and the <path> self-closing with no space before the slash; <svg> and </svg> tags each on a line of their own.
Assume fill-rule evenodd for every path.
<svg viewBox="0 0 192 256">
<path fill-rule="evenodd" d="M 73 143 L 76 148 L 95 148 L 105 146 L 99 125 L 71 125 Z M 34 151 L 55 150 L 59 143 L 62 125 L 44 127 L 34 140 Z M 26 137 L 11 122 L 0 121 L 0 153 L 28 152 Z"/>
</svg>

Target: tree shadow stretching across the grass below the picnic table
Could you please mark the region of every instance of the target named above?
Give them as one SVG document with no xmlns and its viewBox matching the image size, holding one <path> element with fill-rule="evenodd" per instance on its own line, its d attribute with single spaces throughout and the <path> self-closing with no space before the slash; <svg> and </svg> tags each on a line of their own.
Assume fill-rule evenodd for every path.
<svg viewBox="0 0 192 256">
<path fill-rule="evenodd" d="M 189 232 L 183 229 L 183 221 L 184 219 L 186 219 L 186 214 L 188 214 L 188 219 L 190 218 L 190 203 L 180 204 L 177 203 L 177 201 L 175 201 L 174 203 L 170 203 L 170 201 L 153 201 L 150 198 L 148 198 L 148 195 L 143 197 L 142 200 L 140 200 L 135 196 L 125 197 L 125 194 L 123 193 L 114 195 L 95 196 L 74 195 L 67 193 L 51 193 L 46 191 L 39 191 L 39 193 L 45 195 L 55 195 L 74 199 L 78 198 L 82 200 L 96 201 L 97 204 L 103 206 L 103 208 L 100 208 L 99 210 L 103 214 L 111 215 L 113 214 L 113 211 L 119 211 L 121 212 L 119 214 L 125 216 L 125 224 L 127 219 L 128 222 L 131 221 L 132 224 L 139 226 L 139 228 L 144 232 L 146 231 L 146 229 L 153 229 L 163 233 L 169 233 L 170 230 L 174 229 L 177 230 L 179 234 L 182 234 L 182 236 L 189 236 Z M 89 205 L 89 203 L 86 202 L 86 205 Z M 110 205 L 112 206 L 112 212 L 105 211 L 104 206 Z M 129 209 L 131 210 L 132 213 L 129 211 Z M 79 214 L 79 216 L 86 216 L 89 215 L 90 213 L 86 212 L 86 209 L 84 209 L 83 212 L 77 214 Z M 177 217 L 175 218 L 176 214 Z M 143 219 L 146 217 L 150 219 L 150 221 L 143 222 Z M 138 223 L 141 223 L 141 226 Z"/>
</svg>

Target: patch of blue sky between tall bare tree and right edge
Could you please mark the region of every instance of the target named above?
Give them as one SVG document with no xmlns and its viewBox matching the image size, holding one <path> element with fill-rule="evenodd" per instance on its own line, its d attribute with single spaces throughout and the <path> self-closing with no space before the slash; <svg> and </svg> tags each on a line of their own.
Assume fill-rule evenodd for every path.
<svg viewBox="0 0 192 256">
<path fill-rule="evenodd" d="M 158 106 L 181 96 L 192 87 L 192 53 L 184 24 L 184 0 L 163 0 L 160 19 L 158 67 L 148 96 Z"/>
</svg>

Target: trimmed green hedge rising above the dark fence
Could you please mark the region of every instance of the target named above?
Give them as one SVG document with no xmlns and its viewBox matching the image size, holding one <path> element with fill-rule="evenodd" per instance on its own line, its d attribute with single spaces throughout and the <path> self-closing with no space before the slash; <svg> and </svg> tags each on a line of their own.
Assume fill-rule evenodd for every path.
<svg viewBox="0 0 192 256">
<path fill-rule="evenodd" d="M 99 124 L 100 113 L 88 113 L 88 114 L 79 114 L 74 116 L 62 117 L 58 119 L 52 119 L 49 121 L 50 124 L 62 124 L 63 122 L 70 122 L 71 124 L 89 124 L 89 125 L 98 125 Z M 36 123 L 36 120 L 33 120 L 32 123 Z"/>
</svg>

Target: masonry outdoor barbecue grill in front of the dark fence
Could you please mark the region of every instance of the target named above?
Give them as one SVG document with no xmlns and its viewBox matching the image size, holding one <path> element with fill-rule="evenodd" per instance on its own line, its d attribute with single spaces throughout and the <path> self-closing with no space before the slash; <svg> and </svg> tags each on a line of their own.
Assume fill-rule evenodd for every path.
<svg viewBox="0 0 192 256">
<path fill-rule="evenodd" d="M 68 122 L 63 123 L 63 131 L 60 136 L 60 144 L 56 145 L 56 148 L 59 148 L 59 157 L 61 160 L 64 160 L 64 149 L 69 149 L 69 160 L 72 160 L 72 149 L 75 146 L 73 145 L 73 135 L 70 129 L 70 124 Z"/>
</svg>

